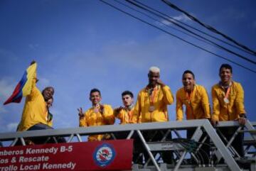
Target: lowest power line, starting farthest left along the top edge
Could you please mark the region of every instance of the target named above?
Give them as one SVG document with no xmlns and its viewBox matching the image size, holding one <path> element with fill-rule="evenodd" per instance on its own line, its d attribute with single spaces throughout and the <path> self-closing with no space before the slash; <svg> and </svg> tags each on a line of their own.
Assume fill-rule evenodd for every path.
<svg viewBox="0 0 256 171">
<path fill-rule="evenodd" d="M 180 37 L 178 37 L 177 35 L 174 35 L 174 34 L 172 34 L 172 33 L 169 33 L 169 31 L 165 31 L 164 29 L 159 28 L 158 26 L 154 26 L 153 24 L 148 23 L 148 22 L 142 20 L 141 18 L 138 18 L 137 16 L 132 15 L 131 13 L 127 13 L 126 11 L 123 11 L 122 9 L 117 8 L 116 6 L 114 6 L 114 5 L 112 5 L 112 4 L 108 3 L 108 2 L 106 2 L 106 1 L 104 1 L 104 0 L 100 0 L 100 1 L 101 1 L 102 3 L 104 3 L 104 4 L 107 4 L 108 6 L 111 6 L 111 7 L 114 8 L 114 9 L 117 9 L 117 11 L 121 11 L 122 13 L 125 13 L 125 14 L 127 14 L 128 16 L 131 16 L 132 18 L 135 18 L 135 19 L 137 19 L 138 21 L 141 21 L 142 23 L 146 23 L 146 24 L 148 24 L 148 25 L 151 26 L 151 27 L 154 27 L 154 28 L 156 28 L 156 29 L 159 29 L 160 31 L 163 31 L 164 33 L 167 33 L 167 34 L 169 34 L 169 35 L 174 36 L 175 38 L 178 38 L 179 40 L 182 40 L 183 42 L 186 42 L 186 43 L 188 43 L 188 44 L 190 44 L 190 45 L 193 45 L 193 46 L 196 47 L 196 48 L 199 48 L 199 49 L 201 49 L 201 50 L 203 50 L 203 51 L 205 51 L 205 52 L 207 52 L 207 53 L 210 53 L 210 54 L 212 54 L 212 55 L 215 55 L 215 56 L 217 56 L 217 57 L 220 57 L 220 58 L 222 58 L 223 60 L 227 60 L 228 62 L 231 62 L 231 63 L 233 63 L 233 64 L 235 64 L 235 65 L 238 65 L 238 66 L 244 68 L 245 70 L 249 70 L 250 72 L 253 72 L 253 73 L 256 74 L 256 71 L 255 71 L 255 70 L 252 70 L 252 69 L 250 69 L 250 68 L 248 68 L 248 67 L 245 67 L 245 66 L 243 66 L 243 65 L 240 65 L 238 62 L 234 62 L 234 61 L 232 61 L 232 60 L 227 59 L 226 57 L 223 57 L 223 56 L 218 55 L 218 54 L 216 54 L 216 53 L 210 52 L 210 50 L 207 50 L 207 49 L 205 49 L 205 48 L 201 48 L 201 47 L 198 46 L 198 45 L 195 45 L 195 44 L 193 44 L 193 43 L 191 43 L 191 42 L 188 42 L 187 40 L 184 40 L 183 38 L 180 38 Z"/>
</svg>

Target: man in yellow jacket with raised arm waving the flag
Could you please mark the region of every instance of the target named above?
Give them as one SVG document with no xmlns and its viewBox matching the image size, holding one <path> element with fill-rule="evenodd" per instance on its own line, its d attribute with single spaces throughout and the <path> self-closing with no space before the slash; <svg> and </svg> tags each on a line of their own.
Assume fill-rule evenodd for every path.
<svg viewBox="0 0 256 171">
<path fill-rule="evenodd" d="M 35 62 L 31 62 L 33 65 Z M 26 96 L 26 102 L 18 124 L 17 131 L 31 131 L 40 129 L 51 129 L 52 123 L 49 121 L 46 101 L 53 98 L 53 87 L 46 87 L 43 92 L 36 87 L 36 73 L 33 76 L 31 93 Z"/>
</svg>

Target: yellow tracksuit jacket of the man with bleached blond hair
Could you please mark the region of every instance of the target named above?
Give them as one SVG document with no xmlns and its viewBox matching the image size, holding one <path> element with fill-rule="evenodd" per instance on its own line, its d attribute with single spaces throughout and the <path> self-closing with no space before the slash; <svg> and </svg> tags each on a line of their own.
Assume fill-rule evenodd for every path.
<svg viewBox="0 0 256 171">
<path fill-rule="evenodd" d="M 156 91 L 154 111 L 149 111 L 151 104 L 147 87 L 139 92 L 137 103 L 134 107 L 132 123 L 138 123 L 139 117 L 142 117 L 142 123 L 169 121 L 167 105 L 174 102 L 174 96 L 171 94 L 171 89 L 168 86 L 161 87 L 158 85 L 154 91 Z"/>
</svg>

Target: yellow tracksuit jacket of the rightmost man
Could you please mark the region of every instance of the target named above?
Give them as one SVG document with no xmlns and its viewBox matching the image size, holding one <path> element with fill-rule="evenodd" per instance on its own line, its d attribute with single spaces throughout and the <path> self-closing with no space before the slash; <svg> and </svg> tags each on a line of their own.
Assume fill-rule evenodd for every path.
<svg viewBox="0 0 256 171">
<path fill-rule="evenodd" d="M 229 103 L 224 102 L 225 89 L 220 84 L 212 87 L 213 119 L 215 121 L 233 121 L 245 114 L 244 91 L 238 82 L 232 82 L 228 96 Z"/>
</svg>

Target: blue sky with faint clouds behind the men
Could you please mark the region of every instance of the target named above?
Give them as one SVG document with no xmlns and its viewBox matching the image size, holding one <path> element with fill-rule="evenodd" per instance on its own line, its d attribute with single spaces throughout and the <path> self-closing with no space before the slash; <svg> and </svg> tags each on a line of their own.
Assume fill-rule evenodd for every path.
<svg viewBox="0 0 256 171">
<path fill-rule="evenodd" d="M 108 2 L 117 5 L 112 0 Z M 161 1 L 143 2 L 206 31 Z M 256 50 L 256 1 L 171 2 Z M 141 16 L 125 7 L 122 9 Z M 143 18 L 213 53 L 256 70 L 255 65 L 234 55 Z M 160 67 L 161 79 L 171 87 L 174 96 L 182 86 L 181 75 L 184 70 L 192 70 L 196 82 L 206 87 L 210 95 L 210 87 L 219 81 L 218 68 L 227 62 L 126 16 L 100 1 L 2 0 L 0 26 L 1 132 L 15 131 L 20 121 L 25 98 L 20 104 L 2 104 L 11 95 L 32 60 L 38 62 L 39 89 L 55 87 L 55 101 L 51 109 L 55 128 L 78 126 L 77 109 L 81 106 L 85 111 L 91 106 L 88 97 L 92 88 L 100 89 L 102 102 L 113 107 L 122 104 L 120 94 L 124 90 L 129 89 L 137 96 L 148 82 L 147 72 L 152 65 Z M 255 60 L 255 56 L 241 54 Z M 255 121 L 256 75 L 231 65 L 234 70 L 233 79 L 240 82 L 245 90 L 248 118 Z M 176 118 L 175 104 L 169 106 L 169 117 L 173 121 Z"/>
</svg>

